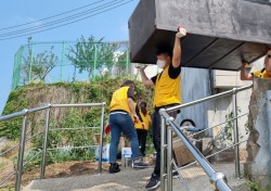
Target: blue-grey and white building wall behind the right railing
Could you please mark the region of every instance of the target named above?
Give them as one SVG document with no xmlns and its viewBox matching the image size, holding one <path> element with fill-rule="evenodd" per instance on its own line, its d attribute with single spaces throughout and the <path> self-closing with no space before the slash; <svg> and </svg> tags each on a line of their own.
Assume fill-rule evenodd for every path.
<svg viewBox="0 0 271 191">
<path fill-rule="evenodd" d="M 263 67 L 263 59 L 258 60 L 257 62 L 253 63 L 253 66 L 249 71 L 258 71 Z M 216 73 L 215 73 L 216 74 Z M 220 75 L 219 80 L 224 80 L 225 85 L 227 81 L 231 81 L 231 84 L 228 84 L 228 86 L 221 86 L 220 88 L 217 88 L 215 85 L 215 81 L 212 81 L 215 78 L 212 76 L 212 73 L 210 73 L 208 69 L 198 69 L 198 68 L 182 68 L 182 102 L 191 102 L 195 101 L 201 98 L 205 98 L 211 94 L 215 94 L 214 91 L 217 93 L 231 90 L 234 88 L 233 85 L 236 85 L 236 87 L 240 86 L 247 86 L 251 84 L 253 81 L 240 81 L 236 76 L 237 75 L 228 75 L 229 72 L 224 72 L 224 77 L 221 78 L 221 74 L 223 74 L 222 71 L 219 71 L 217 74 Z M 222 82 L 220 81 L 219 85 Z M 238 135 L 240 140 L 246 140 L 247 139 L 247 113 L 248 113 L 248 105 L 250 100 L 251 90 L 244 90 L 242 92 L 237 93 L 237 107 L 238 107 L 238 115 L 243 115 L 237 120 L 238 126 Z M 221 124 L 225 122 L 225 116 L 229 115 L 232 112 L 232 97 L 224 97 L 220 98 L 218 100 L 204 102 L 194 106 L 186 107 L 182 111 L 182 113 L 178 116 L 177 122 L 180 123 L 184 118 L 191 118 L 195 122 L 197 127 L 201 128 L 207 128 L 207 127 L 215 127 L 214 130 L 209 131 L 209 136 L 216 137 L 219 132 L 219 129 L 221 127 L 224 127 L 224 124 Z M 225 147 L 228 144 L 231 144 L 230 142 L 224 142 L 223 144 L 217 145 L 218 148 Z M 245 149 L 245 143 L 241 144 L 241 149 Z"/>
</svg>

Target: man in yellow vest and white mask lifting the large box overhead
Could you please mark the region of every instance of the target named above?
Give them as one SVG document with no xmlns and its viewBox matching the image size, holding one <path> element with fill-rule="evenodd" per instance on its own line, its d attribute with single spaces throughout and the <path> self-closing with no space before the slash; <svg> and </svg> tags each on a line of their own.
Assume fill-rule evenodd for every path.
<svg viewBox="0 0 271 191">
<path fill-rule="evenodd" d="M 147 181 L 145 189 L 154 190 L 160 184 L 160 115 L 159 110 L 181 103 L 181 38 L 186 35 L 183 27 L 178 27 L 173 51 L 169 43 L 157 47 L 157 66 L 162 73 L 149 78 L 144 72 L 145 66 L 137 66 L 145 87 L 154 87 L 154 115 L 153 115 L 153 144 L 156 150 L 154 171 Z M 177 112 L 171 112 L 176 117 Z"/>
</svg>

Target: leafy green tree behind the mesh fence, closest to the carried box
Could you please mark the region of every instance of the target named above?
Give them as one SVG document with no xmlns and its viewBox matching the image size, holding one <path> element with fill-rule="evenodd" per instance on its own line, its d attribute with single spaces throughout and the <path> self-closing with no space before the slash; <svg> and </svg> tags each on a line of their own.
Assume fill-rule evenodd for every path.
<svg viewBox="0 0 271 191">
<path fill-rule="evenodd" d="M 118 43 L 105 43 L 103 38 L 95 40 L 90 36 L 87 40 L 82 36 L 75 47 L 70 47 L 67 59 L 79 68 L 79 73 L 87 72 L 93 78 L 95 72 L 103 75 L 106 68 L 111 71 L 116 63 Z"/>
</svg>

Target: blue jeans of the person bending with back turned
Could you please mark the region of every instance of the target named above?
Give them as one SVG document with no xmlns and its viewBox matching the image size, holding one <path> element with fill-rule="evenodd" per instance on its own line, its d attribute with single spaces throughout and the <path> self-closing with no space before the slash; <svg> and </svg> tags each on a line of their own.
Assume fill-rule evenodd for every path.
<svg viewBox="0 0 271 191">
<path fill-rule="evenodd" d="M 117 149 L 120 138 L 120 132 L 124 132 L 131 141 L 132 158 L 140 156 L 139 139 L 133 122 L 129 114 L 114 113 L 109 115 L 111 126 L 111 148 L 109 163 L 115 163 L 117 160 Z"/>
</svg>

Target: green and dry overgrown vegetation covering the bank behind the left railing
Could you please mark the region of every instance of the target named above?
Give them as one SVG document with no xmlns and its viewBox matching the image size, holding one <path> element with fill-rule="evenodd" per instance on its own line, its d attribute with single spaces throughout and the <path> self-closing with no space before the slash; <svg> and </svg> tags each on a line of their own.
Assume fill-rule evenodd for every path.
<svg viewBox="0 0 271 191">
<path fill-rule="evenodd" d="M 28 86 L 13 90 L 10 93 L 7 105 L 2 115 L 22 111 L 23 109 L 33 109 L 47 103 L 101 103 L 105 102 L 105 119 L 108 117 L 109 101 L 113 92 L 119 88 L 124 79 L 107 79 L 103 81 L 75 81 L 70 84 L 57 82 L 44 85 L 42 82 L 30 84 Z M 136 81 L 136 99 L 143 99 L 152 107 L 152 89 L 146 89 L 141 81 Z M 101 126 L 101 109 L 100 107 L 80 107 L 80 109 L 51 109 L 50 112 L 50 132 L 48 137 L 48 155 L 47 164 L 60 163 L 65 161 L 86 161 L 94 158 L 94 148 L 72 147 L 89 147 L 95 145 L 93 140 L 94 133 L 99 133 L 100 129 L 79 130 L 73 128 L 78 127 L 100 127 Z M 35 136 L 30 141 L 30 148 L 27 149 L 25 161 L 30 160 L 37 153 L 42 151 L 43 130 L 44 130 L 44 111 L 28 115 L 27 136 Z M 21 135 L 22 117 L 7 120 L 0 124 L 0 137 L 18 140 Z M 72 130 L 61 130 L 63 128 L 72 128 Z M 55 130 L 54 130 L 55 129 Z M 56 130 L 57 129 L 57 130 Z M 149 138 L 149 145 L 151 139 Z M 56 148 L 65 148 L 62 150 L 52 150 Z M 16 156 L 13 158 L 16 164 Z M 28 166 L 39 165 L 41 154 L 34 157 Z"/>
</svg>

